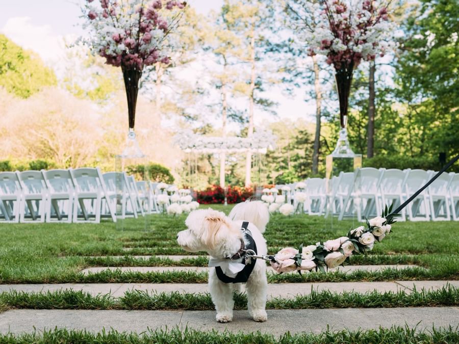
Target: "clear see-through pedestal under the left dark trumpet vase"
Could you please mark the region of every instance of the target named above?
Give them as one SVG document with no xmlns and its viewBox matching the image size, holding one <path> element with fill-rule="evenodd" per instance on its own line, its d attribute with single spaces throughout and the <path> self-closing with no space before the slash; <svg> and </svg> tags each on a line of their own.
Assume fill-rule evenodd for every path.
<svg viewBox="0 0 459 344">
<path fill-rule="evenodd" d="M 134 129 L 129 129 L 123 152 L 115 156 L 116 228 L 147 230 L 150 214 L 147 158 L 140 150 Z M 130 172 L 136 171 L 133 175 Z M 143 181 L 142 183 L 137 183 Z"/>
</svg>

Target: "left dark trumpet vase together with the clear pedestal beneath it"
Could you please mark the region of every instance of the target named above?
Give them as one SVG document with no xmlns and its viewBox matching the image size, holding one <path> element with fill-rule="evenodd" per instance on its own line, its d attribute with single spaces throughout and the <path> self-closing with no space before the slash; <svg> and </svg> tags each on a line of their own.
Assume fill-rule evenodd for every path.
<svg viewBox="0 0 459 344">
<path fill-rule="evenodd" d="M 122 68 L 127 98 L 129 130 L 123 150 L 115 156 L 116 169 L 116 227 L 120 230 L 147 229 L 150 214 L 147 158 L 134 131 L 137 95 L 142 71 Z"/>
</svg>

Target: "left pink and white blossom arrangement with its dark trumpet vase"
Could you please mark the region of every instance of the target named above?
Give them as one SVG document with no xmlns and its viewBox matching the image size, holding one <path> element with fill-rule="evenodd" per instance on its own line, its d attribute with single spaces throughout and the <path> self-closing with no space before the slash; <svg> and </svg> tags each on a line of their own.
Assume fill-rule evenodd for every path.
<svg viewBox="0 0 459 344">
<path fill-rule="evenodd" d="M 87 0 L 83 7 L 87 43 L 107 64 L 121 67 L 129 127 L 134 128 L 137 93 L 145 66 L 168 64 L 172 44 L 166 37 L 179 24 L 185 2 L 172 0 Z"/>
</svg>

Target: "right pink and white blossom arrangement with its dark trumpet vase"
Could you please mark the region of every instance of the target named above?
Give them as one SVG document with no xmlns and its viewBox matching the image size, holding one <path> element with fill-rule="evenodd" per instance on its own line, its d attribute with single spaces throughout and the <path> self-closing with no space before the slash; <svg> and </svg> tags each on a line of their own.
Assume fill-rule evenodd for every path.
<svg viewBox="0 0 459 344">
<path fill-rule="evenodd" d="M 325 55 L 327 63 L 335 67 L 343 128 L 354 68 L 362 60 L 384 56 L 392 45 L 389 3 L 383 1 L 294 0 L 288 5 L 303 23 L 309 55 Z"/>
</svg>

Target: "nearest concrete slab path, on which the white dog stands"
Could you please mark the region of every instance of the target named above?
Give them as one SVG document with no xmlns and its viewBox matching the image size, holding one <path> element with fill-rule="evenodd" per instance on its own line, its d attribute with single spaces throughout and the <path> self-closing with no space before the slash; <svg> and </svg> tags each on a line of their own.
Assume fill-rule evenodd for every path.
<svg viewBox="0 0 459 344">
<path fill-rule="evenodd" d="M 459 307 L 419 308 L 345 308 L 268 310 L 268 321 L 256 323 L 246 310 L 235 311 L 234 321 L 219 324 L 215 311 L 120 311 L 120 310 L 34 310 L 15 309 L 0 314 L 0 333 L 34 332 L 43 329 L 67 328 L 100 332 L 104 328 L 117 331 L 143 332 L 148 329 L 165 329 L 179 326 L 211 331 L 228 330 L 251 333 L 261 331 L 276 336 L 290 333 L 319 333 L 330 326 L 331 330 L 378 329 L 379 326 L 416 327 L 431 330 L 432 325 L 456 328 L 459 324 Z"/>
</svg>

